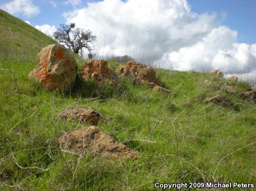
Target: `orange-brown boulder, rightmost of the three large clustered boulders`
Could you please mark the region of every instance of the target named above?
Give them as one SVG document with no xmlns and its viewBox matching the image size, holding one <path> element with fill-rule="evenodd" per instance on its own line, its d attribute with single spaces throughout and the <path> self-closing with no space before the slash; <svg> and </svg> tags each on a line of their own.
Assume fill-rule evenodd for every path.
<svg viewBox="0 0 256 191">
<path fill-rule="evenodd" d="M 118 66 L 116 71 L 121 76 L 132 77 L 140 84 L 154 83 L 161 86 L 158 79 L 155 77 L 155 70 L 150 66 L 139 62 L 127 62 L 125 66 Z"/>
</svg>

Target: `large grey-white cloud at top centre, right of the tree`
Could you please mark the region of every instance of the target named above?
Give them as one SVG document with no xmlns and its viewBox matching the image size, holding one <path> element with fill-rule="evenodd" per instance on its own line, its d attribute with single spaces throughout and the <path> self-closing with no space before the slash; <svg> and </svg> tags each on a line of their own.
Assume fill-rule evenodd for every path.
<svg viewBox="0 0 256 191">
<path fill-rule="evenodd" d="M 92 30 L 100 53 L 104 49 L 133 56 L 136 51 L 151 59 L 197 42 L 218 24 L 215 14 L 190 13 L 185 0 L 105 0 L 64 17 L 67 23 Z"/>
</svg>

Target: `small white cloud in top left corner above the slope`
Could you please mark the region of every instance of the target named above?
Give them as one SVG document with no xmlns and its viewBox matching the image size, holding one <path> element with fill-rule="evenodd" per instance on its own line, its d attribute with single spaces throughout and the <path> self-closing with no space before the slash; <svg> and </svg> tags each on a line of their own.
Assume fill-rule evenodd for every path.
<svg viewBox="0 0 256 191">
<path fill-rule="evenodd" d="M 40 12 L 39 7 L 35 6 L 31 0 L 12 0 L 0 8 L 12 15 L 23 14 L 26 17 L 38 15 Z"/>
</svg>

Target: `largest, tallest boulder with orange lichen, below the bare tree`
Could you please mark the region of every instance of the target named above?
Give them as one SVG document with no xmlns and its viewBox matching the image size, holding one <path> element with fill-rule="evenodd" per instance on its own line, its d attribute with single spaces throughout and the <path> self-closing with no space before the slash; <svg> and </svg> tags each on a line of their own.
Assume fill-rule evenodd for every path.
<svg viewBox="0 0 256 191">
<path fill-rule="evenodd" d="M 49 90 L 68 91 L 75 82 L 77 63 L 71 53 L 60 44 L 43 48 L 37 56 L 37 66 L 28 73 Z"/>
</svg>

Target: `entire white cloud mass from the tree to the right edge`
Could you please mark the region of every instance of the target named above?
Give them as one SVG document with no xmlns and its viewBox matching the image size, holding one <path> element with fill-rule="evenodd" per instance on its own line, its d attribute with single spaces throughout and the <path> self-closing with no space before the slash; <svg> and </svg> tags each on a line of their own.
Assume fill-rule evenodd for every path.
<svg viewBox="0 0 256 191">
<path fill-rule="evenodd" d="M 238 44 L 237 31 L 220 26 L 216 13 L 193 13 L 186 0 L 104 0 L 64 17 L 92 30 L 99 56 L 128 54 L 179 70 L 256 70 L 256 44 Z"/>
</svg>

